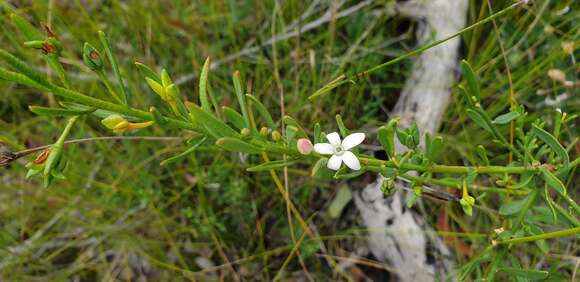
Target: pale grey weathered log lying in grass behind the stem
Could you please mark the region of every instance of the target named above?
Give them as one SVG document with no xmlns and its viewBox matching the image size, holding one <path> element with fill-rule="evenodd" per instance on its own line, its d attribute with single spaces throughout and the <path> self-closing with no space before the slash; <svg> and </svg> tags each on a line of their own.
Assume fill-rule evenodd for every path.
<svg viewBox="0 0 580 282">
<path fill-rule="evenodd" d="M 445 38 L 465 25 L 467 0 L 410 0 L 397 6 L 400 15 L 420 22 L 419 45 Z M 431 48 L 414 62 L 392 116 L 405 127 L 415 121 L 422 134 L 434 133 L 449 102 L 458 64 L 459 38 Z M 398 145 L 398 151 L 404 150 Z M 397 270 L 400 281 L 434 281 L 453 268 L 449 249 L 430 227 L 405 207 L 402 189 L 392 197 L 380 191 L 383 179 L 355 193 L 355 203 L 369 230 L 368 245 L 379 260 Z M 402 185 L 402 184 L 399 184 Z"/>
</svg>

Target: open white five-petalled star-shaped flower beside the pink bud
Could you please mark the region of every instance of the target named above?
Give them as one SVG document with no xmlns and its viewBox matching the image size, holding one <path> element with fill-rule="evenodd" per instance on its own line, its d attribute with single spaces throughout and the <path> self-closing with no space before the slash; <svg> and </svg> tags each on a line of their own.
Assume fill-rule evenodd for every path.
<svg viewBox="0 0 580 282">
<path fill-rule="evenodd" d="M 349 150 L 358 146 L 363 140 L 365 140 L 364 133 L 350 134 L 341 142 L 340 135 L 333 132 L 327 134 L 326 139 L 328 139 L 330 143 L 315 144 L 314 151 L 323 155 L 332 155 L 328 160 L 328 168 L 338 170 L 342 162 L 344 162 L 344 164 L 352 170 L 360 169 L 358 158 Z"/>
</svg>

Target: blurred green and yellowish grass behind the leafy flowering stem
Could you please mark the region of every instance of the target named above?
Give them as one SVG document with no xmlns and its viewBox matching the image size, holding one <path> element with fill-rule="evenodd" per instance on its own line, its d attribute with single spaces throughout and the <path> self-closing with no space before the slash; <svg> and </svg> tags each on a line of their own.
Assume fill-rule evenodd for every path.
<svg viewBox="0 0 580 282">
<path fill-rule="evenodd" d="M 81 52 L 84 42 L 101 46 L 97 31 L 105 31 L 125 77 L 131 105 L 146 110 L 162 103 L 144 83 L 133 64 L 135 61 L 156 71 L 166 68 L 174 81 L 181 83 L 182 94 L 199 103 L 194 93 L 206 57 L 219 62 L 244 48 L 266 42 L 289 27 L 309 6 L 303 1 L 280 1 L 281 6 L 276 2 L 99 1 L 83 5 L 80 0 L 33 1 L 16 7 L 15 11 L 36 26 L 50 22 L 65 46 L 64 65 L 71 74 L 71 88 L 103 99 L 109 94 L 84 67 Z M 396 16 L 372 16 L 371 11 L 382 11 L 388 5 L 376 2 L 358 13 L 306 31 L 299 38 L 291 37 L 275 46 L 259 48 L 251 56 L 220 64 L 210 72 L 210 90 L 217 103 L 236 107 L 231 76 L 239 70 L 243 81 L 251 85 L 249 91 L 268 107 L 275 122 L 280 121 L 282 89 L 285 113 L 307 130 L 315 122 L 320 122 L 324 131 L 333 130 L 336 114 L 341 114 L 351 129 L 368 131 L 383 125 L 407 77 L 411 60 L 383 68 L 354 86 L 337 88 L 313 102 L 307 99 L 340 73 L 355 74 L 415 49 L 416 23 Z M 470 2 L 468 23 L 489 16 L 485 1 Z M 578 45 L 580 29 L 575 22 L 579 16 L 577 7 L 558 15 L 573 1 L 532 2 L 531 6 L 516 8 L 497 18 L 497 30 L 488 23 L 464 34 L 462 57 L 476 70 L 482 83 L 483 104 L 494 116 L 509 110 L 511 87 L 517 101 L 529 112 L 530 121 L 537 118 L 551 121 L 554 106 L 546 105 L 546 99 L 567 92 L 571 98 L 558 107 L 569 113 L 577 113 L 580 108 L 577 87 L 564 88 L 547 75 L 550 69 L 560 69 L 568 80 L 578 84 L 574 63 L 577 52 L 567 54 L 561 44 Z M 493 10 L 499 11 L 511 3 L 493 1 Z M 12 6 L 4 3 L 0 7 L 1 47 L 46 70 L 37 50 L 22 47 L 25 40 L 8 17 L 7 7 Z M 318 5 L 304 23 L 327 10 L 328 3 Z M 498 40 L 505 47 L 505 54 Z M 512 74 L 511 86 L 504 55 Z M 106 73 L 117 86 L 109 66 Z M 190 77 L 193 79 L 183 79 Z M 54 75 L 53 79 L 58 80 Z M 0 90 L 0 141 L 16 150 L 56 141 L 66 121 L 36 116 L 27 108 L 54 105 L 54 99 L 6 81 L 0 81 Z M 477 163 L 473 147 L 484 145 L 490 148 L 492 163 L 505 164 L 506 156 L 500 147 L 466 116 L 459 92 L 456 87 L 453 89 L 454 100 L 441 126 L 440 133 L 446 140 L 443 150 L 447 153 L 440 163 Z M 82 121 L 71 138 L 112 134 L 95 117 L 88 116 Z M 508 134 L 507 130 L 503 133 Z M 132 135 L 187 134 L 152 127 Z M 565 146 L 571 146 L 572 159 L 578 156 L 578 145 L 574 145 L 577 136 L 574 124 L 562 129 L 561 140 Z M 286 201 L 271 175 L 245 171 L 251 164 L 261 162 L 260 158 L 250 157 L 241 162 L 238 154 L 202 147 L 181 162 L 159 166 L 162 160 L 186 149 L 187 145 L 180 141 L 91 142 L 70 146 L 66 150 L 70 156 L 67 180 L 48 189 L 42 188 L 38 179 L 24 179 L 26 161 L 2 168 L 0 278 L 133 280 L 147 275 L 156 281 L 205 281 L 223 275 L 226 280 L 235 277 L 271 280 L 277 275 L 291 277 L 292 273 L 307 269 L 317 281 L 329 277 L 344 279 L 322 255 L 347 257 L 346 251 L 364 243 L 365 233 L 360 226 L 331 220 L 326 214 L 342 185 L 332 181 L 330 174 L 310 177 L 306 165 L 288 170 L 289 197 L 301 217 L 311 221 L 318 232 L 314 235 L 317 240 L 305 236 L 297 247 L 293 242 L 302 239 L 303 230 L 295 216 L 289 224 Z M 283 175 L 279 173 L 278 177 Z M 570 196 L 577 199 L 580 182 L 578 177 L 570 179 L 566 183 Z M 478 204 L 493 210 L 510 197 L 489 193 L 475 196 Z M 543 210 L 546 207 L 538 208 L 542 208 L 538 217 L 548 213 Z M 432 216 L 427 219 L 436 224 L 436 215 L 443 210 L 450 217 L 452 232 L 489 234 L 501 226 L 495 213 L 467 217 L 459 206 L 447 204 L 429 205 L 427 212 Z M 538 221 L 546 232 L 553 226 L 549 217 Z M 23 244 L 26 240 L 30 245 Z M 320 249 L 318 240 L 324 242 L 325 251 Z M 483 236 L 457 236 L 457 240 L 466 243 L 473 254 L 489 245 Z M 513 255 L 509 256 L 525 257 L 527 268 L 544 263 L 545 269 L 570 279 L 575 271 L 570 256 L 578 253 L 577 239 L 545 243 L 549 246 L 547 254 L 528 244 L 514 246 Z M 462 255 L 458 245 L 451 246 L 459 264 L 475 257 Z M 299 259 L 293 257 L 285 262 L 295 247 Z M 207 268 L 204 260 L 210 260 L 217 269 L 203 271 Z M 282 266 L 284 271 L 279 274 Z M 476 279 L 488 270 L 478 268 L 470 277 Z"/>
</svg>

